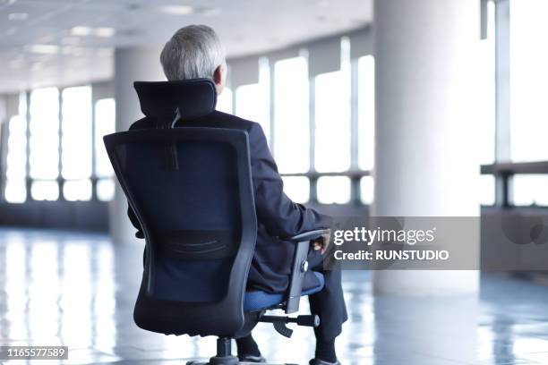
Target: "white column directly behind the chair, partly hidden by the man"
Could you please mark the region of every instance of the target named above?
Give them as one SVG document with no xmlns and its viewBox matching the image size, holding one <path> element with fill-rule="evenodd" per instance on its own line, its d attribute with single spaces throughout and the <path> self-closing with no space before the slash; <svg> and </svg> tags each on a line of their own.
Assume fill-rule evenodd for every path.
<svg viewBox="0 0 548 365">
<path fill-rule="evenodd" d="M 159 63 L 159 47 L 120 48 L 115 52 L 116 132 L 127 131 L 142 118 L 134 81 L 166 80 Z M 135 228 L 127 217 L 127 200 L 116 183 L 115 199 L 110 208 L 110 233 L 116 243 L 136 242 Z"/>
</svg>

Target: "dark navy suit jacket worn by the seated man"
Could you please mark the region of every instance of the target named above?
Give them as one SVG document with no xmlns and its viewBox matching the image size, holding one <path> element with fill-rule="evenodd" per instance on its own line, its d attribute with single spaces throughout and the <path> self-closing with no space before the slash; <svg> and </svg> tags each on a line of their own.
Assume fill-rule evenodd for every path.
<svg viewBox="0 0 548 365">
<path fill-rule="evenodd" d="M 176 127 L 229 128 L 247 131 L 249 134 L 255 206 L 258 233 L 248 287 L 270 293 L 287 290 L 295 244 L 281 241 L 278 237 L 290 237 L 298 233 L 330 226 L 330 217 L 311 208 L 296 204 L 283 191 L 283 182 L 276 162 L 270 154 L 264 132 L 259 123 L 250 122 L 235 115 L 212 111 L 193 120 L 180 121 Z M 130 130 L 155 128 L 153 119 L 145 117 L 131 126 Z M 141 226 L 131 208 L 128 215 L 133 225 Z M 138 232 L 137 236 L 142 236 Z M 305 276 L 304 288 L 317 284 L 312 275 Z"/>
</svg>

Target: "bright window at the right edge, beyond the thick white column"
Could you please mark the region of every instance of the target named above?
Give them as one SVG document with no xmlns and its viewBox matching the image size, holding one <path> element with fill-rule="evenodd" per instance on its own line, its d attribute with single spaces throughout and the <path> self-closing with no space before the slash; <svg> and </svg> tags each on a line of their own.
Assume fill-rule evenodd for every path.
<svg viewBox="0 0 548 365">
<path fill-rule="evenodd" d="M 548 145 L 544 136 L 548 134 L 548 109 L 544 89 L 548 82 L 548 49 L 541 45 L 548 32 L 548 3 L 504 0 L 489 2 L 487 10 L 488 38 L 480 45 L 481 59 L 472 90 L 482 104 L 477 108 L 477 133 L 483 146 L 478 157 L 483 164 L 504 163 L 505 168 L 496 179 L 492 174 L 482 176 L 482 203 L 547 206 L 548 174 L 544 174 L 544 166 L 548 163 Z M 496 82 L 491 80 L 495 65 Z M 499 104 L 495 105 L 494 96 L 499 97 Z M 492 114 L 495 109 L 499 112 L 496 119 Z M 492 138 L 495 132 L 496 151 Z M 532 161 L 544 164 L 511 164 Z M 527 174 L 515 174 L 518 167 L 525 167 Z M 496 196 L 495 187 L 500 190 Z"/>
</svg>

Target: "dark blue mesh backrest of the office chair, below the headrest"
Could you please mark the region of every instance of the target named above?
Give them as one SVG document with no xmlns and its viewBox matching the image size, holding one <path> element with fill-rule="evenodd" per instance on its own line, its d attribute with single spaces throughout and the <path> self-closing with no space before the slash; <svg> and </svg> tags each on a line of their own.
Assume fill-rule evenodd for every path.
<svg viewBox="0 0 548 365">
<path fill-rule="evenodd" d="M 257 235 L 247 132 L 181 127 L 104 140 L 146 240 L 137 325 L 234 334 Z"/>
</svg>

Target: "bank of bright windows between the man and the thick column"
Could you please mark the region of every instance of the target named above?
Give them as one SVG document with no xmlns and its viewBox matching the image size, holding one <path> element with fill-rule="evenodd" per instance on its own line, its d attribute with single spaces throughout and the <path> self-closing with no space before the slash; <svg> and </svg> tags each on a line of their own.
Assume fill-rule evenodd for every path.
<svg viewBox="0 0 548 365">
<path fill-rule="evenodd" d="M 236 115 L 262 124 L 284 191 L 296 202 L 372 202 L 374 62 L 364 56 L 351 63 L 350 46 L 341 38 L 340 69 L 315 75 L 306 52 L 269 60 L 259 83 L 230 96 Z"/>
</svg>

